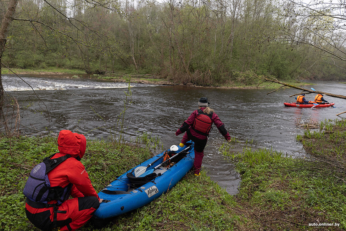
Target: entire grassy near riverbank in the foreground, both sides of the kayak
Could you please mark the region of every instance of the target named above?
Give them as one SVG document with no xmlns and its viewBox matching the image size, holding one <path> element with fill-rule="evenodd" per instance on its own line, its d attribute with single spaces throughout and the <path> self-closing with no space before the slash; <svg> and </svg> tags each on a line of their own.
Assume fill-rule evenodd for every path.
<svg viewBox="0 0 346 231">
<path fill-rule="evenodd" d="M 168 193 L 100 230 L 346 230 L 346 120 L 320 127 L 297 138 L 311 155 L 305 159 L 251 146 L 232 153 L 232 144 L 221 146 L 226 158 L 238 160 L 242 182 L 235 196 L 204 172 L 188 174 Z M 95 190 L 151 157 L 149 147 L 88 141 L 82 162 Z M 3 137 L 0 150 L 0 230 L 37 230 L 26 219 L 22 189 L 31 168 L 57 151 L 56 138 Z M 95 227 L 89 222 L 79 230 Z"/>
</svg>

